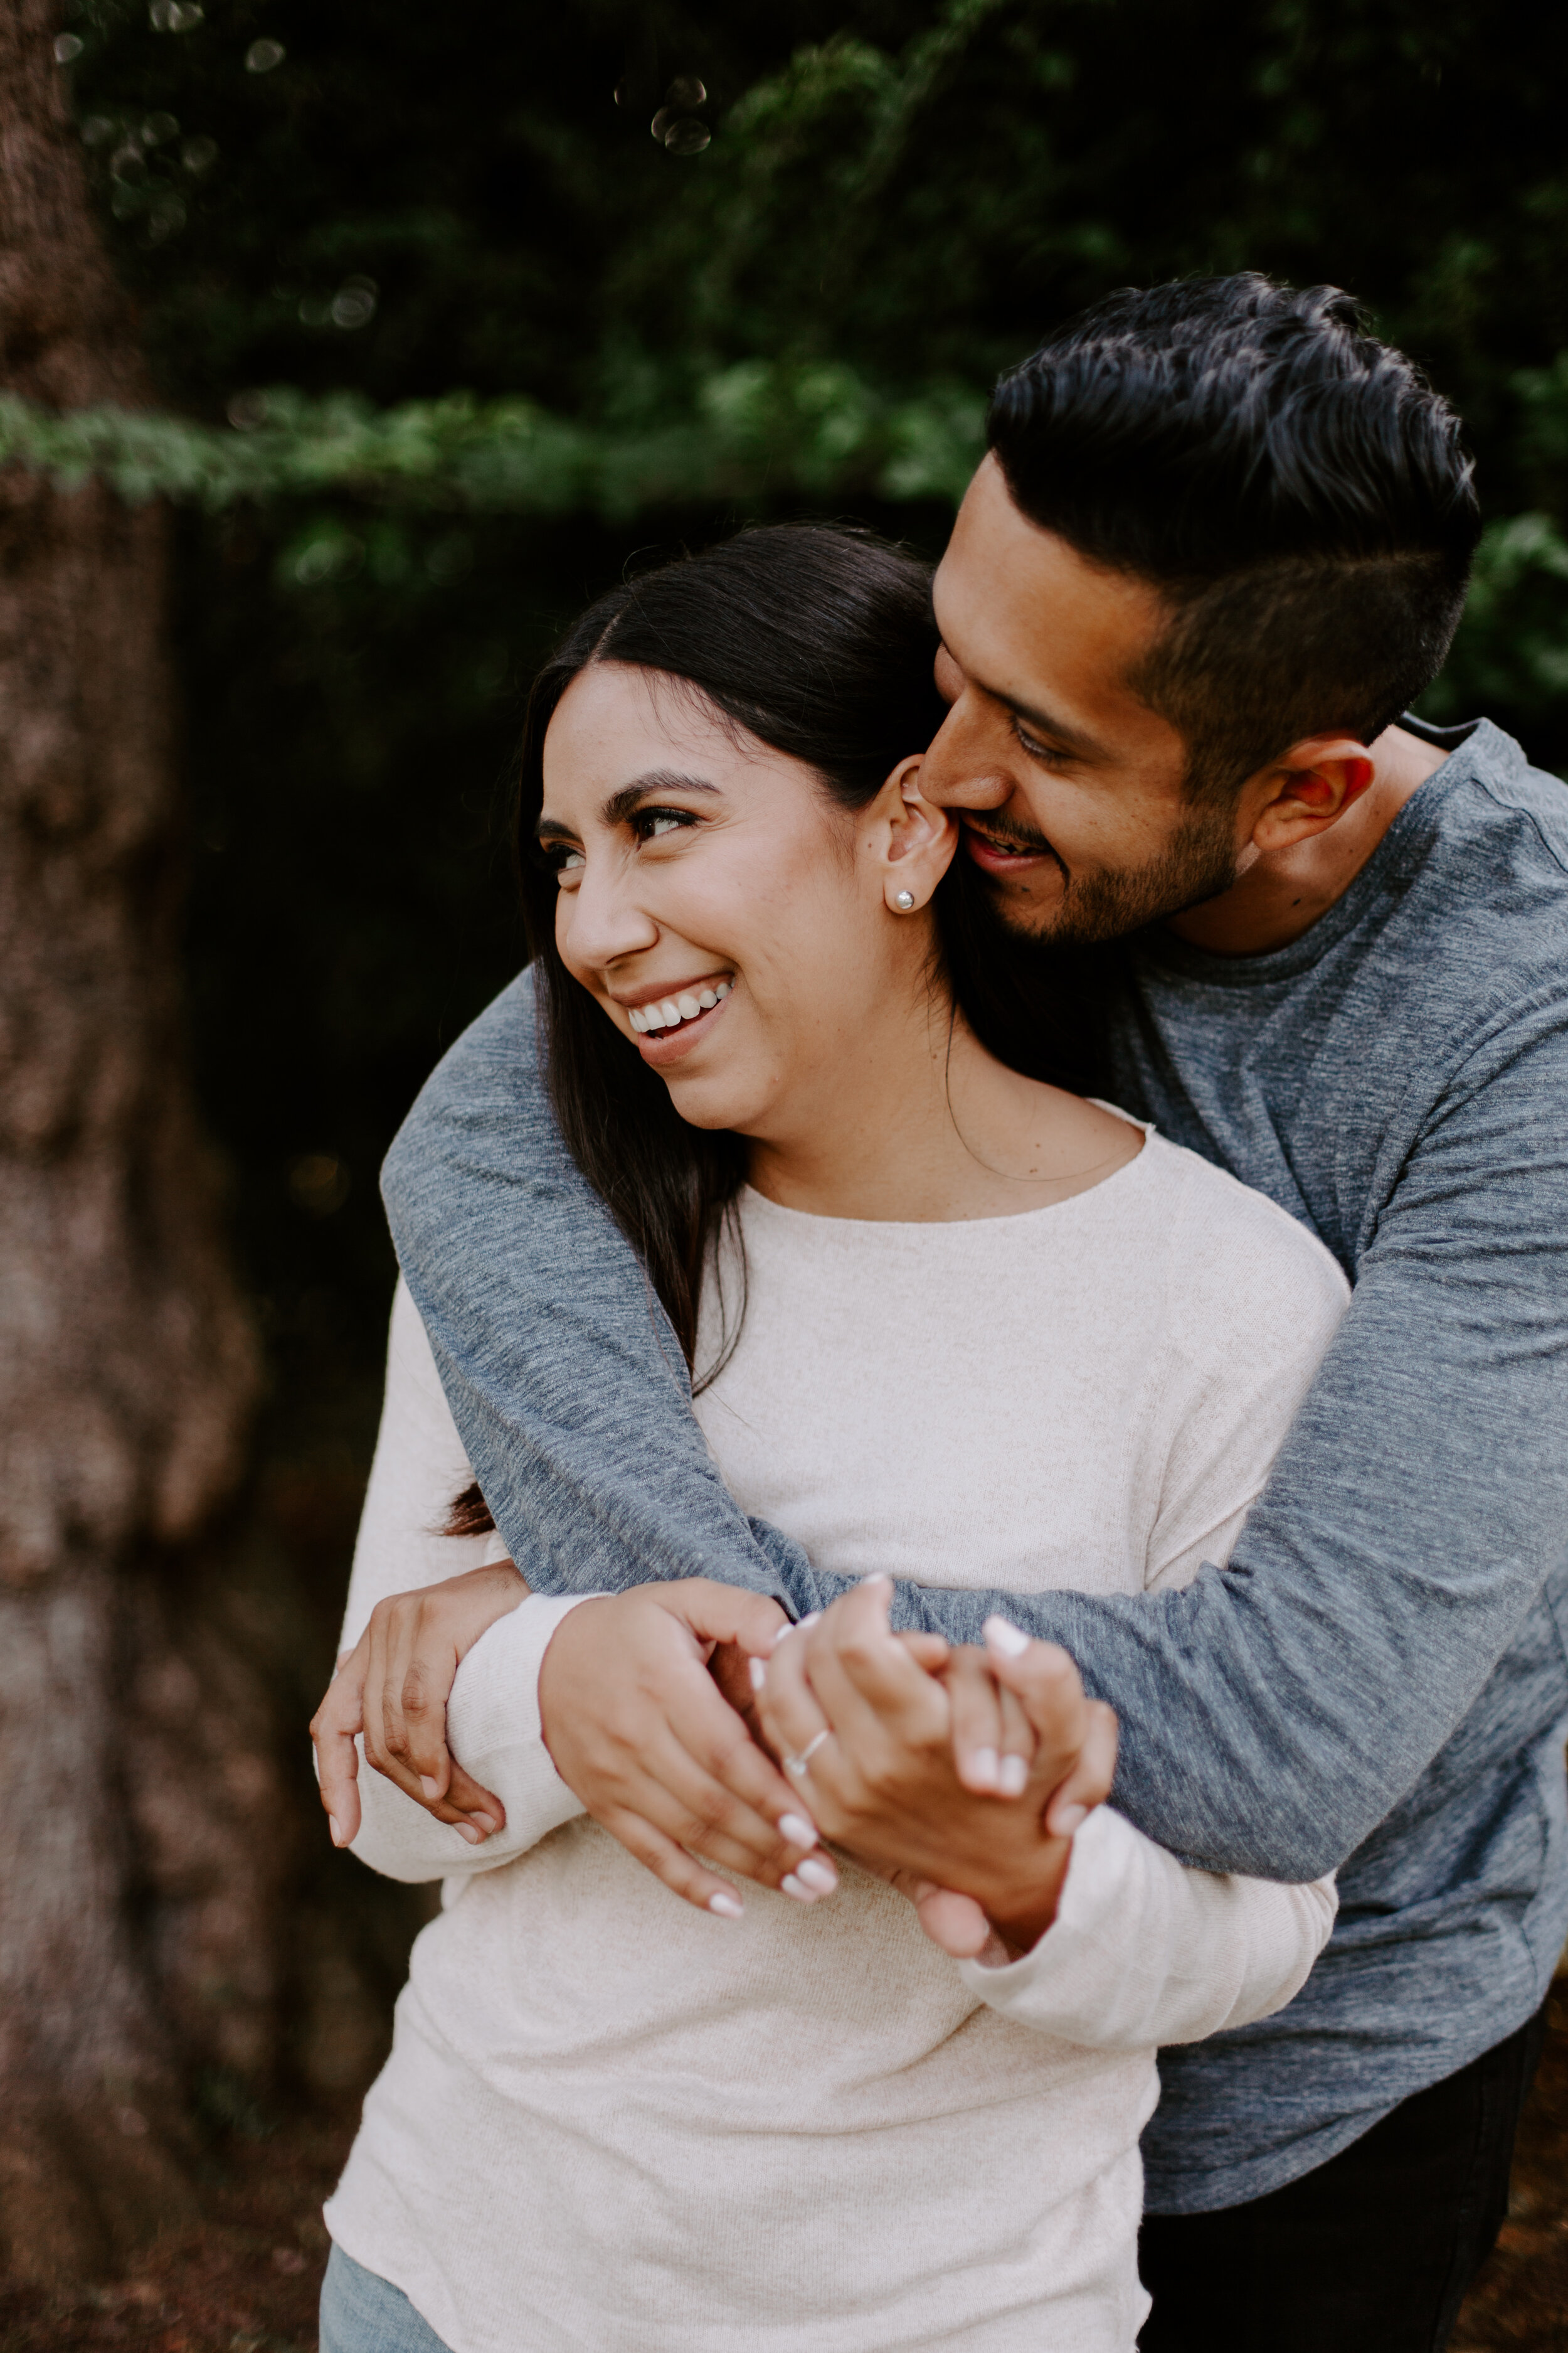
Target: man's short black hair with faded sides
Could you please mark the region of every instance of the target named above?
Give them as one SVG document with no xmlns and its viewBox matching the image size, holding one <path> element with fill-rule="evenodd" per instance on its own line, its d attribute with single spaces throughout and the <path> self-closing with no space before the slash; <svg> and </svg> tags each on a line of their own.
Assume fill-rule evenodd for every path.
<svg viewBox="0 0 1568 2353">
<path fill-rule="evenodd" d="M 1302 736 L 1371 744 L 1432 685 L 1481 518 L 1460 421 L 1338 287 L 1126 289 L 997 386 L 1018 508 L 1161 591 L 1133 678 L 1194 798 Z"/>
</svg>

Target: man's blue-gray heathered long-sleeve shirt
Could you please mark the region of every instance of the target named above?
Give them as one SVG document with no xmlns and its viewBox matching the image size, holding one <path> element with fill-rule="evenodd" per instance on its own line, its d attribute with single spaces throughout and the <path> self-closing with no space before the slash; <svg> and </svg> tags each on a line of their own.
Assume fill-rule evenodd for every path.
<svg viewBox="0 0 1568 2353">
<path fill-rule="evenodd" d="M 1274 955 L 1145 934 L 1112 1094 L 1300 1217 L 1349 1315 L 1225 1572 L 1182 1593 L 922 1586 L 1006 1605 L 1117 1706 L 1117 1805 L 1220 1871 L 1340 1866 L 1276 2019 L 1161 2061 L 1147 2202 L 1324 2162 L 1509 2035 L 1568 1934 L 1568 791 L 1453 744 L 1345 896 Z M 545 1593 L 719 1577 L 797 1612 L 839 1581 L 745 1522 L 630 1247 L 569 1160 L 515 981 L 447 1054 L 383 1191 L 468 1457 Z M 1048 1346 L 1048 1334 L 1041 1334 Z"/>
</svg>

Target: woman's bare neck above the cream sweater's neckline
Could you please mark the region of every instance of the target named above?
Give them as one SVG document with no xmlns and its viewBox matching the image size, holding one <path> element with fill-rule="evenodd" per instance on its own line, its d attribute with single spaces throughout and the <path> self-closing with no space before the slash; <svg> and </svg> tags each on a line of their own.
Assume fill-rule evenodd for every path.
<svg viewBox="0 0 1568 2353">
<path fill-rule="evenodd" d="M 940 991 L 867 1024 L 811 1101 L 750 1139 L 750 1181 L 785 1209 L 959 1224 L 1044 1209 L 1138 1155 L 1143 1134 L 987 1054 Z"/>
</svg>

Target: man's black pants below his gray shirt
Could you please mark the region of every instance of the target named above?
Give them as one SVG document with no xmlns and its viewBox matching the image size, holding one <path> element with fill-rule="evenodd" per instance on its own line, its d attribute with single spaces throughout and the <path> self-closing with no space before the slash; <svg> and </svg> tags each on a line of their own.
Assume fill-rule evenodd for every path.
<svg viewBox="0 0 1568 2353">
<path fill-rule="evenodd" d="M 1493 2252 L 1544 2007 L 1300 2181 L 1147 2214 L 1140 2353 L 1441 2353 Z"/>
</svg>

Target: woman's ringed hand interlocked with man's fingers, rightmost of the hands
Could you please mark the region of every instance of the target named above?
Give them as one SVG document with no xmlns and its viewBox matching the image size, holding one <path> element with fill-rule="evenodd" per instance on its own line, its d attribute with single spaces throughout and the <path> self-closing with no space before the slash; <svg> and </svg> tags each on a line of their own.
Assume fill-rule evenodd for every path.
<svg viewBox="0 0 1568 2353">
<path fill-rule="evenodd" d="M 886 1579 L 867 1579 L 780 1638 L 759 1689 L 764 1732 L 827 1838 L 889 1878 L 929 1882 L 922 1920 L 933 1892 L 973 1897 L 1009 1951 L 1027 1951 L 1056 1918 L 1072 1831 L 1110 1793 L 1114 1715 L 1084 1697 L 1067 1652 L 1004 1621 L 987 1628 L 987 1654 L 964 1664 L 954 1652 L 936 1678 L 889 1631 L 886 1609 Z M 961 1680 L 973 1675 L 1018 1704 L 994 1706 L 983 1788 L 959 1779 L 952 1755 L 957 1708 L 971 1722 L 985 1713 Z M 1018 1767 L 1001 1769 L 1013 1755 L 1023 1786 Z"/>
</svg>

